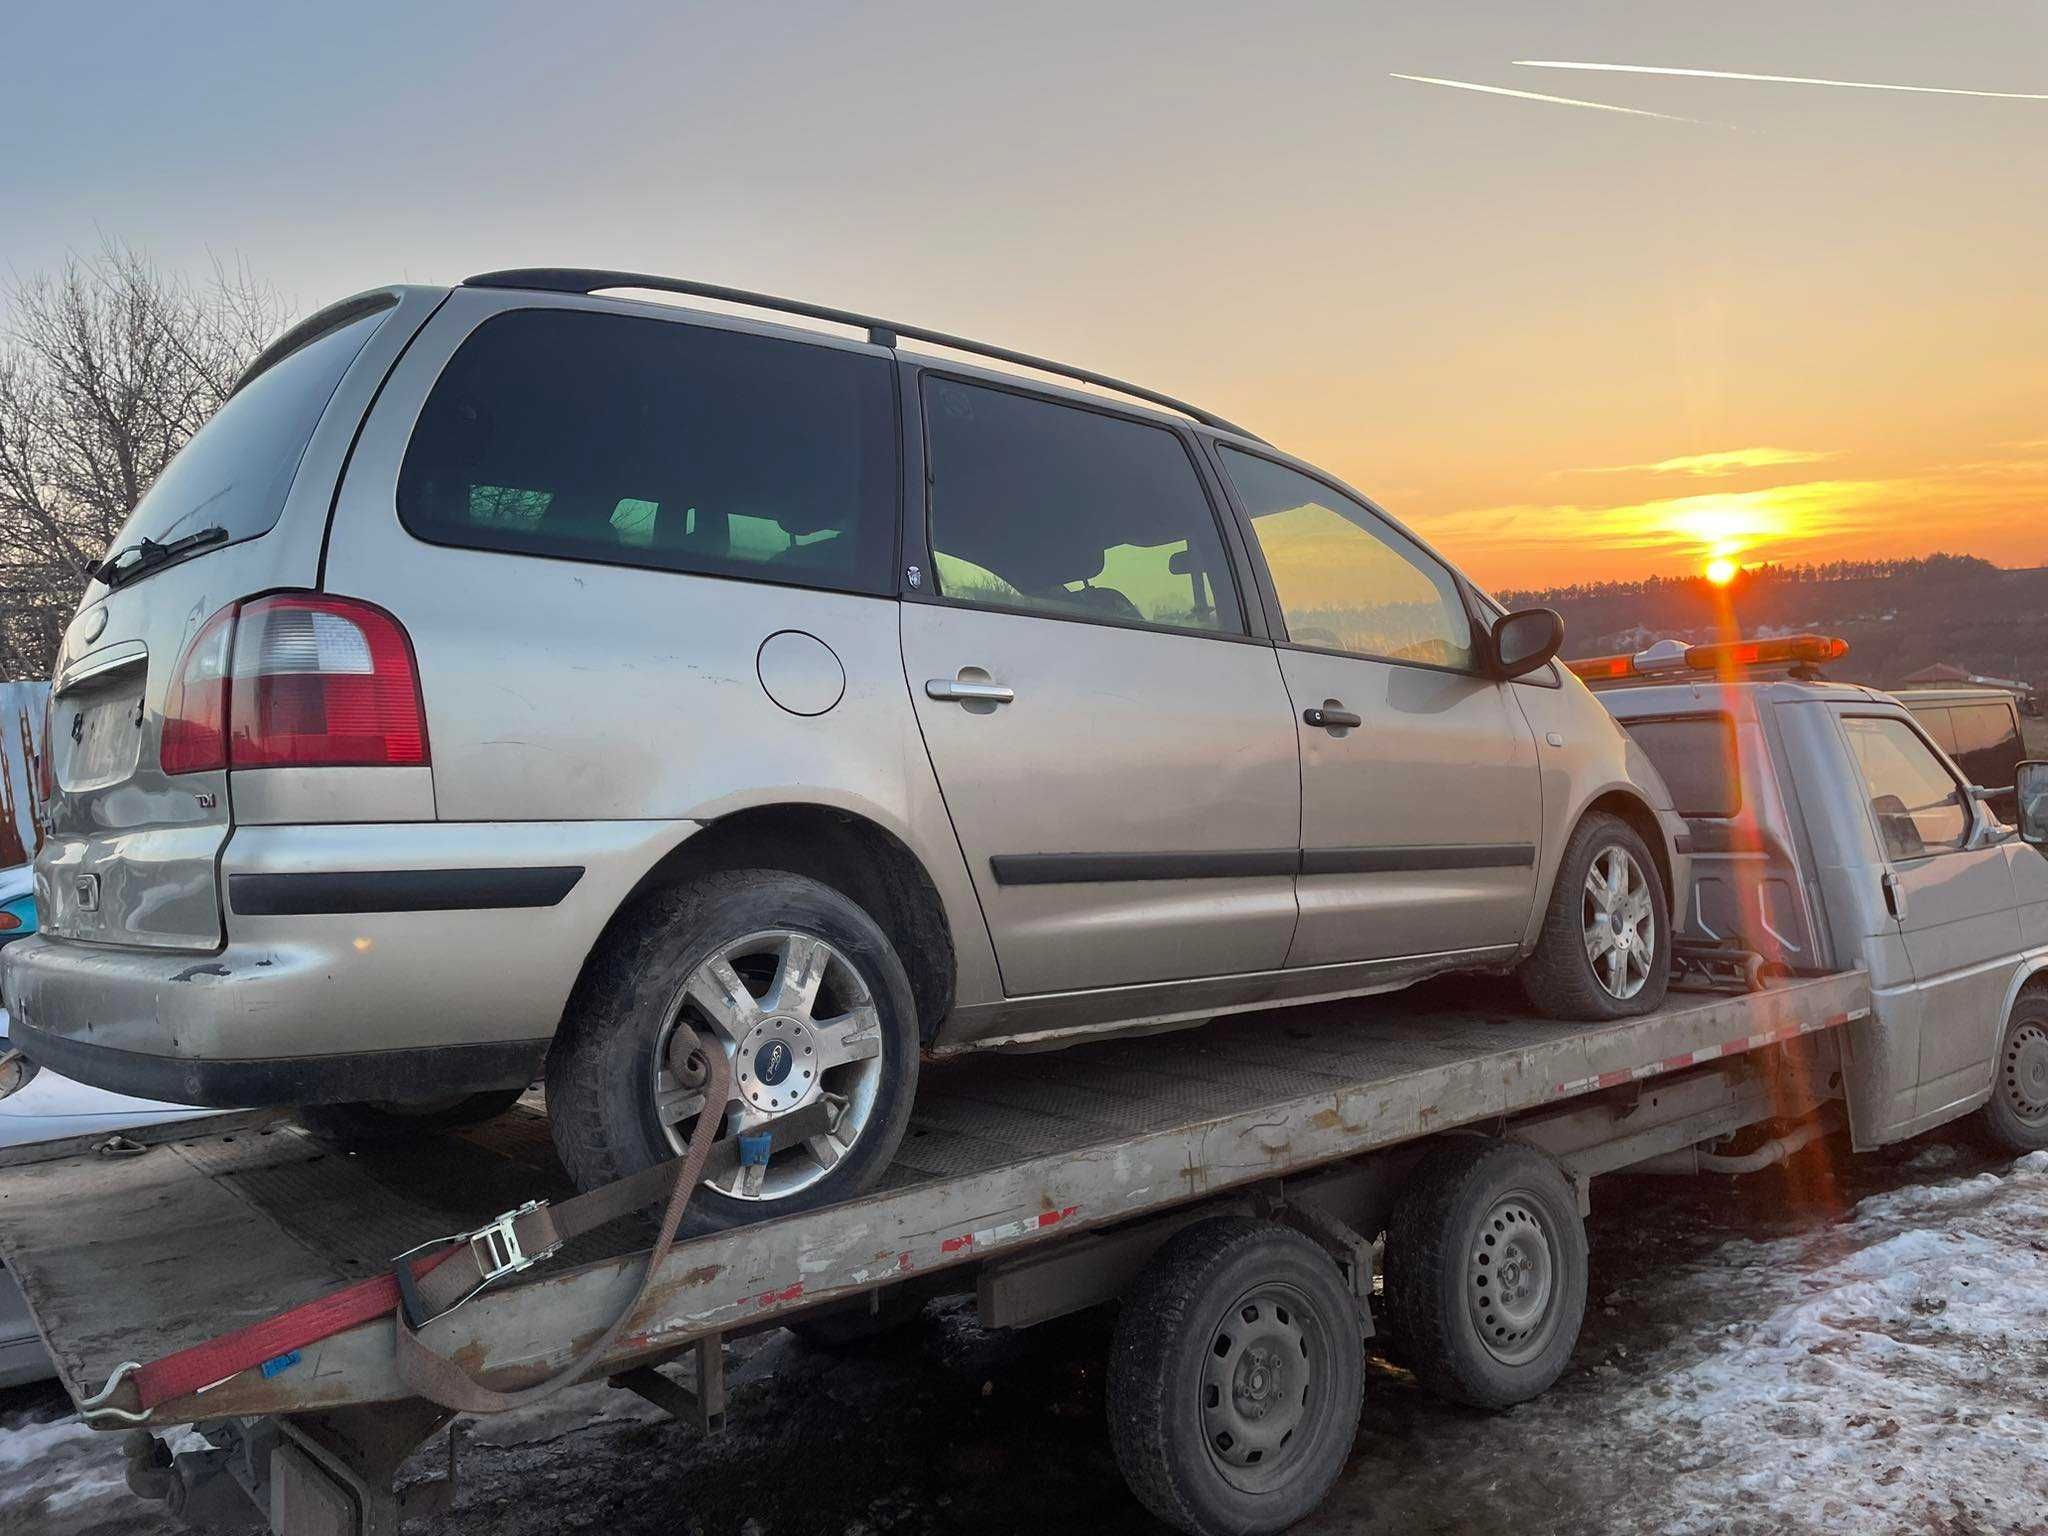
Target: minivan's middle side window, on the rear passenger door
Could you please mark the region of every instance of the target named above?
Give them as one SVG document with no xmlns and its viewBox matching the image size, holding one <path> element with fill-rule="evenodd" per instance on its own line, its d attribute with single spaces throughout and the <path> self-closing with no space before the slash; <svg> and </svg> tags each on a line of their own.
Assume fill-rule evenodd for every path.
<svg viewBox="0 0 2048 1536">
<path fill-rule="evenodd" d="M 940 377 L 924 406 L 940 596 L 1245 631 L 1217 514 L 1174 432 Z"/>
</svg>

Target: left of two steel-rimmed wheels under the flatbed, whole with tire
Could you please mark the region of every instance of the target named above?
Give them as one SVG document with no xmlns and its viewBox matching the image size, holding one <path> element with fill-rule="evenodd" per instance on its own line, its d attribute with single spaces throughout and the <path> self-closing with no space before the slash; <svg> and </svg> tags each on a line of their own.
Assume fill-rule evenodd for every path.
<svg viewBox="0 0 2048 1536">
<path fill-rule="evenodd" d="M 1292 1227 L 1217 1217 L 1176 1233 L 1122 1300 L 1110 1444 L 1169 1526 L 1276 1532 L 1337 1481 L 1362 1393 L 1364 1329 L 1335 1262 Z"/>
</svg>

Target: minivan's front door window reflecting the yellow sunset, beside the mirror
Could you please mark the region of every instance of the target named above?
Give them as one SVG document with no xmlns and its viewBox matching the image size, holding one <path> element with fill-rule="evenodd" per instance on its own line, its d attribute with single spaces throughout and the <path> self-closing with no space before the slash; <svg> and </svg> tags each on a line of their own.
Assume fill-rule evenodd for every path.
<svg viewBox="0 0 2048 1536">
<path fill-rule="evenodd" d="M 1475 666 L 1473 618 L 1450 571 L 1368 506 L 1239 449 L 1223 449 L 1266 553 L 1288 639 L 1436 668 Z"/>
</svg>

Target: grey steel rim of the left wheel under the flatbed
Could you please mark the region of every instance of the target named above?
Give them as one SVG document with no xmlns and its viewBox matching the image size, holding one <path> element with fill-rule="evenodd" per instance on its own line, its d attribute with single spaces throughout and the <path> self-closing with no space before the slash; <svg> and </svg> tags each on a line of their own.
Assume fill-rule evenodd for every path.
<svg viewBox="0 0 2048 1536">
<path fill-rule="evenodd" d="M 1313 1303 L 1288 1284 L 1253 1286 L 1217 1319 L 1202 1356 L 1202 1444 L 1231 1487 L 1264 1493 L 1294 1473 L 1315 1438 L 1329 1350 Z"/>
</svg>

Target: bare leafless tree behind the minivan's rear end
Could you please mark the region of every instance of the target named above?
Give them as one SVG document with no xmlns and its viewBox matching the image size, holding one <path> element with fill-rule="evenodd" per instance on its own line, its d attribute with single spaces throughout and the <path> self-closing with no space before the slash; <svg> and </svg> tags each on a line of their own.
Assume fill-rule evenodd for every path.
<svg viewBox="0 0 2048 1536">
<path fill-rule="evenodd" d="M 92 565 L 287 309 L 244 266 L 104 242 L 0 285 L 0 678 L 41 678 Z"/>
</svg>

